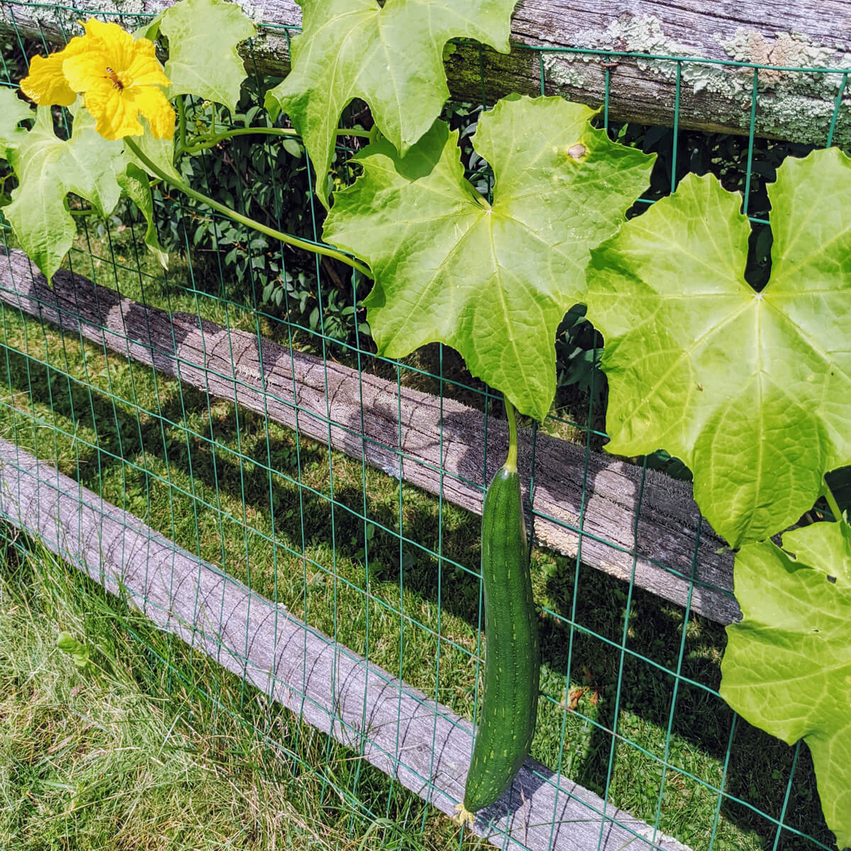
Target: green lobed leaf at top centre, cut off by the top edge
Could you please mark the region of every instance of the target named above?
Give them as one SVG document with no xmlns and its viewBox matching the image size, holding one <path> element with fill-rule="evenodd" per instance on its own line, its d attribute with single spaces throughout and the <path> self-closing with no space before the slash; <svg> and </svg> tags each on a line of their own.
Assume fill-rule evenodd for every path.
<svg viewBox="0 0 851 851">
<path fill-rule="evenodd" d="M 293 39 L 293 70 L 266 94 L 305 140 L 328 205 L 325 175 L 340 113 L 365 100 L 375 123 L 405 153 L 426 133 L 449 96 L 443 48 L 476 38 L 508 52 L 517 0 L 299 0 L 303 34 Z"/>
</svg>

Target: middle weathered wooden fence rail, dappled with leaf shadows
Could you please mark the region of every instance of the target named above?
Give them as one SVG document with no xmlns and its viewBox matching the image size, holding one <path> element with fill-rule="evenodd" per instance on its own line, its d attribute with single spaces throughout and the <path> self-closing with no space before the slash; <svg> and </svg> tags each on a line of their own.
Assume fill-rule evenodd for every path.
<svg viewBox="0 0 851 851">
<path fill-rule="evenodd" d="M 490 418 L 486 432 L 480 411 L 271 340 L 259 346 L 255 334 L 199 327 L 197 317 L 140 305 L 66 271 L 49 288 L 20 251 L 0 258 L 0 299 L 479 514 L 484 484 L 504 460 L 505 424 Z M 521 444 L 528 476 L 528 433 Z M 690 601 L 712 620 L 739 620 L 733 559 L 700 523 L 687 483 L 596 452 L 586 468 L 583 447 L 539 436 L 532 508 L 540 544 L 575 556 L 581 526 L 584 563 Z"/>
</svg>

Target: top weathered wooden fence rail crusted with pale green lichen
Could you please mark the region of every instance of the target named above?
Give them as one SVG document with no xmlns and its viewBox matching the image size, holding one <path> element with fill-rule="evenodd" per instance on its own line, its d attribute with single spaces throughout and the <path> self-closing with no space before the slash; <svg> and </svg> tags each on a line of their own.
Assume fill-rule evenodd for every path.
<svg viewBox="0 0 851 851">
<path fill-rule="evenodd" d="M 65 41 L 88 12 L 137 26 L 134 15 L 154 14 L 173 0 L 86 0 L 75 10 L 19 0 L 0 3 L 0 28 L 29 37 Z M 294 0 L 243 4 L 260 24 L 260 37 L 243 49 L 248 68 L 283 74 L 288 43 L 281 26 L 299 26 Z M 263 26 L 265 25 L 265 26 Z M 512 23 L 517 47 L 612 49 L 621 52 L 740 60 L 785 67 L 851 69 L 851 0 L 522 0 Z M 591 106 L 603 103 L 603 57 L 514 49 L 505 57 L 485 51 L 488 100 L 512 91 L 540 94 L 540 62 L 547 94 Z M 448 59 L 454 97 L 481 100 L 478 49 Z M 717 65 L 683 65 L 680 127 L 746 132 L 751 117 L 752 71 Z M 762 71 L 757 134 L 821 143 L 831 123 L 842 75 Z M 616 120 L 671 125 L 677 65 L 624 58 L 611 70 L 609 112 Z M 851 111 L 842 106 L 835 139 L 851 143 Z"/>
</svg>

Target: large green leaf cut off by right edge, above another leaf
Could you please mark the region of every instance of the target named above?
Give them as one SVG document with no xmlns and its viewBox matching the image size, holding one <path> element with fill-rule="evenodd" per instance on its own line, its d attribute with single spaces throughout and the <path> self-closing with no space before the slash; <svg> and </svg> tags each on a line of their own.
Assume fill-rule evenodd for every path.
<svg viewBox="0 0 851 851">
<path fill-rule="evenodd" d="M 748 220 L 711 176 L 591 254 L 588 318 L 606 341 L 608 449 L 664 448 L 731 545 L 794 523 L 851 462 L 851 160 L 789 159 L 769 186 L 773 268 L 743 277 Z"/>
</svg>

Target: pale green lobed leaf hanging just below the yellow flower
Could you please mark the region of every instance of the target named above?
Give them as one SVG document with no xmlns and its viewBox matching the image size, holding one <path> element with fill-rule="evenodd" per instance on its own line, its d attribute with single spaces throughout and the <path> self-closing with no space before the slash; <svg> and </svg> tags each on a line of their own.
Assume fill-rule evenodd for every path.
<svg viewBox="0 0 851 851">
<path fill-rule="evenodd" d="M 44 106 L 9 157 L 19 186 L 3 213 L 21 248 L 49 280 L 77 233 L 67 194 L 87 199 L 101 215 L 111 213 L 121 196 L 116 180 L 123 168 L 121 146 L 82 126 L 75 126 L 70 140 L 58 139 L 50 108 Z"/>
</svg>

